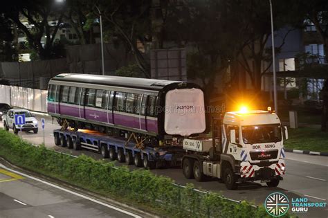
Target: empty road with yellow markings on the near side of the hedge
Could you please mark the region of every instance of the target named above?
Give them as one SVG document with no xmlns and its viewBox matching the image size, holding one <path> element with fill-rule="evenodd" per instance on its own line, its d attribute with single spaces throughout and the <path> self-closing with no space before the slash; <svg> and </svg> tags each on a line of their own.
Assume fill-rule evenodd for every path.
<svg viewBox="0 0 328 218">
<path fill-rule="evenodd" d="M 0 217 L 140 217 L 0 164 Z"/>
</svg>

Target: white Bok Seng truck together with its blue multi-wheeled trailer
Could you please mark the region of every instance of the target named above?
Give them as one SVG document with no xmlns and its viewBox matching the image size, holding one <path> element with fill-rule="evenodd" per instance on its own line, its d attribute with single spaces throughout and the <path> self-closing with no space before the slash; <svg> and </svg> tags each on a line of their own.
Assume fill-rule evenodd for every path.
<svg viewBox="0 0 328 218">
<path fill-rule="evenodd" d="M 91 149 L 103 158 L 154 169 L 179 165 L 187 179 L 221 179 L 228 190 L 244 181 L 279 185 L 286 172 L 286 127 L 272 111 L 230 111 L 212 118 L 212 137 L 186 136 L 182 146 L 145 146 L 138 136 L 109 136 L 99 131 L 55 129 L 55 145 Z M 179 141 L 179 139 L 175 139 Z"/>
</svg>

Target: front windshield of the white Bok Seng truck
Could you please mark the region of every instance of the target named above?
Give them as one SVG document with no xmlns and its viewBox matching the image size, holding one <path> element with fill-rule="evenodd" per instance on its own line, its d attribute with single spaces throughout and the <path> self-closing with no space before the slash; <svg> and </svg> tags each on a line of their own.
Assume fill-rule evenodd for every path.
<svg viewBox="0 0 328 218">
<path fill-rule="evenodd" d="M 282 140 L 282 132 L 279 124 L 243 126 L 242 137 L 245 144 L 276 143 Z"/>
</svg>

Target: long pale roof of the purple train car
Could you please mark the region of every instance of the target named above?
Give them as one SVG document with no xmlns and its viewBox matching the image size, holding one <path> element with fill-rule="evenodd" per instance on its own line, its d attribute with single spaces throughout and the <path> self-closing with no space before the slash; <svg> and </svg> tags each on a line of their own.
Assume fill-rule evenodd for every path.
<svg viewBox="0 0 328 218">
<path fill-rule="evenodd" d="M 52 80 L 66 82 L 80 82 L 89 84 L 110 85 L 115 87 L 133 87 L 137 89 L 161 90 L 169 84 L 189 83 L 183 81 L 155 80 L 147 78 L 128 78 L 112 75 L 94 75 L 82 73 L 62 73 L 56 75 Z M 195 84 L 196 85 L 196 84 Z M 197 85 L 196 85 L 197 86 Z"/>
</svg>

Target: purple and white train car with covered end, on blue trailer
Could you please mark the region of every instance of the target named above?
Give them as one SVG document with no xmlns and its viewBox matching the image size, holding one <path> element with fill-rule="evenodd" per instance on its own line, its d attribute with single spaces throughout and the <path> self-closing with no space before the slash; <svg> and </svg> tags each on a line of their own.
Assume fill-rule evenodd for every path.
<svg viewBox="0 0 328 218">
<path fill-rule="evenodd" d="M 120 129 L 158 140 L 206 129 L 203 91 L 191 82 L 64 73 L 49 82 L 47 108 L 60 124 Z"/>
</svg>

